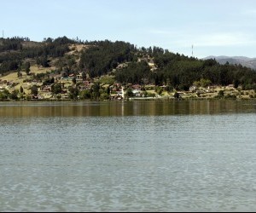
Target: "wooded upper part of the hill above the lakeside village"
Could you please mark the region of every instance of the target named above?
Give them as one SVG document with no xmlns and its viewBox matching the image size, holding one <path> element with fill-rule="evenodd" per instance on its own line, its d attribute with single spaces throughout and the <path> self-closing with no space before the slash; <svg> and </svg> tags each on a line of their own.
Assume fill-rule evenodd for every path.
<svg viewBox="0 0 256 213">
<path fill-rule="evenodd" d="M 137 48 L 121 41 L 79 41 L 67 37 L 32 42 L 28 37 L 0 38 L 0 75 L 49 68 L 64 77 L 84 72 L 89 78 L 111 75 L 117 83 L 168 85 L 188 90 L 201 79 L 216 85 L 256 89 L 256 72 L 245 66 L 198 60 L 159 47 Z"/>
</svg>

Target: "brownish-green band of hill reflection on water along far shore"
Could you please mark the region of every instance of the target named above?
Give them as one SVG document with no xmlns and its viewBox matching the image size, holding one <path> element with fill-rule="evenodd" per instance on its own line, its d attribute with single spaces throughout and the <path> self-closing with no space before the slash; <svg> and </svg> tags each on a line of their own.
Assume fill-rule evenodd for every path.
<svg viewBox="0 0 256 213">
<path fill-rule="evenodd" d="M 84 117 L 256 112 L 256 101 L 0 102 L 0 117 Z"/>
</svg>

